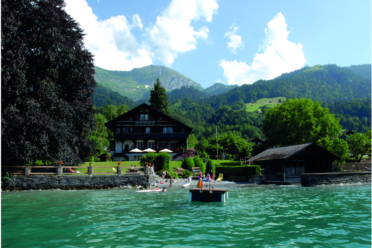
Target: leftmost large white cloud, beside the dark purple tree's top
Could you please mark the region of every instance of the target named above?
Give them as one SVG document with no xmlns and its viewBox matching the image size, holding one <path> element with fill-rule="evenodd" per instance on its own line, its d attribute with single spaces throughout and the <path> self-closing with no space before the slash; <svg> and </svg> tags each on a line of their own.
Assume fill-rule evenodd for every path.
<svg viewBox="0 0 372 248">
<path fill-rule="evenodd" d="M 152 64 L 151 53 L 144 44 L 138 44 L 130 30 L 142 29 L 138 14 L 133 24 L 123 15 L 98 20 L 85 0 L 65 0 L 65 11 L 84 29 L 85 47 L 94 54 L 95 65 L 110 70 L 131 70 Z"/>
</svg>

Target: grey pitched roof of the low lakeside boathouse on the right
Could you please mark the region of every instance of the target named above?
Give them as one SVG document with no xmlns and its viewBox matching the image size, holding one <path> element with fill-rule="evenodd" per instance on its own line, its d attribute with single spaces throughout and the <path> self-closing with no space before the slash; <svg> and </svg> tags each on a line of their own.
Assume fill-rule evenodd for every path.
<svg viewBox="0 0 372 248">
<path fill-rule="evenodd" d="M 277 148 L 267 149 L 260 154 L 253 157 L 253 161 L 263 161 L 263 160 L 287 160 L 290 157 L 298 153 L 305 151 L 310 152 L 311 148 L 314 147 L 318 152 L 328 153 L 328 155 L 333 156 L 335 159 L 340 159 L 340 157 L 334 155 L 333 153 L 321 148 L 314 143 L 305 143 L 299 145 L 283 146 Z"/>
</svg>

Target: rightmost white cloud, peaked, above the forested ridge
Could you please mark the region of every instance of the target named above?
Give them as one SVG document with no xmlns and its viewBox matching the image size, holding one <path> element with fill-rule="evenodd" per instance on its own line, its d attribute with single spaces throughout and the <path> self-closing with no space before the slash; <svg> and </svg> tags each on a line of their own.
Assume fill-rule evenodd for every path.
<svg viewBox="0 0 372 248">
<path fill-rule="evenodd" d="M 287 24 L 281 12 L 267 23 L 265 39 L 259 46 L 263 53 L 255 54 L 253 62 L 221 60 L 229 84 L 251 84 L 259 79 L 273 79 L 282 73 L 301 68 L 305 62 L 302 44 L 288 41 Z"/>
</svg>

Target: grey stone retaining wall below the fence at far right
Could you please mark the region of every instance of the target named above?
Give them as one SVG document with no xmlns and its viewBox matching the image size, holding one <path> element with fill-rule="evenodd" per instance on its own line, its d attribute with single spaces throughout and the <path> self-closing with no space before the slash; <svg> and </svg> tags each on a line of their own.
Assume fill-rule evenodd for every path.
<svg viewBox="0 0 372 248">
<path fill-rule="evenodd" d="M 371 172 L 301 174 L 301 186 L 352 185 L 371 183 Z"/>
</svg>

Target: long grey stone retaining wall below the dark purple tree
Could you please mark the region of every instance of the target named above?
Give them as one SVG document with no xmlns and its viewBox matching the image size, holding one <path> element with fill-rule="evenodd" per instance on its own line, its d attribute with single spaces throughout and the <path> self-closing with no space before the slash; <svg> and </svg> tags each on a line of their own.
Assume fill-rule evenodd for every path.
<svg viewBox="0 0 372 248">
<path fill-rule="evenodd" d="M 73 176 L 9 176 L 3 190 L 28 189 L 103 189 L 113 187 L 150 187 L 145 175 L 73 175 Z"/>
</svg>

